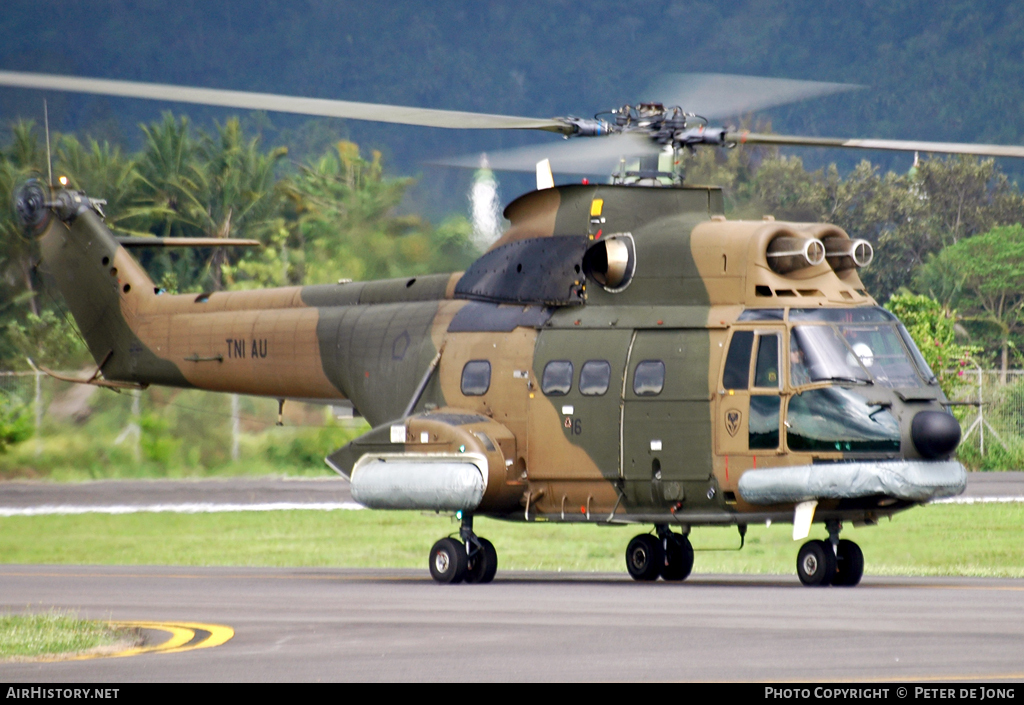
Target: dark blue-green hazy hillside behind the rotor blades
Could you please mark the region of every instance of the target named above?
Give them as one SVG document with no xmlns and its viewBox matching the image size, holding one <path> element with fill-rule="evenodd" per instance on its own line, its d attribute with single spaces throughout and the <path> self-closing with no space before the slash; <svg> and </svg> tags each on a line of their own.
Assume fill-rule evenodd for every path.
<svg viewBox="0 0 1024 705">
<path fill-rule="evenodd" d="M 1024 142 L 1024 6 L 1007 0 L 526 2 L 386 4 L 8 0 L 0 68 L 183 83 L 513 115 L 590 115 L 650 97 L 668 72 L 717 71 L 859 83 L 868 89 L 766 114 L 779 132 Z M 55 126 L 137 148 L 135 125 L 168 106 L 49 96 Z M 0 119 L 40 96 L 0 91 Z M 226 113 L 188 110 L 209 125 Z M 469 175 L 431 158 L 537 135 L 248 116 L 301 159 L 338 132 L 424 173 L 409 207 L 465 208 Z M 871 155 L 905 170 L 909 157 Z M 809 165 L 856 159 L 816 153 Z M 1017 165 L 1006 164 L 1011 173 Z M 502 177 L 507 201 L 528 188 Z"/>
</svg>

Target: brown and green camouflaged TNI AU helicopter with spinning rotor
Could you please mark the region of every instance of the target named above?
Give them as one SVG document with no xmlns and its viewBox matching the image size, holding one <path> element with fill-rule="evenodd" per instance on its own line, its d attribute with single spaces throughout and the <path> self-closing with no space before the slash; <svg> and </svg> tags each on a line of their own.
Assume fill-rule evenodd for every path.
<svg viewBox="0 0 1024 705">
<path fill-rule="evenodd" d="M 751 134 L 660 103 L 543 120 L 7 72 L 0 84 L 574 138 L 492 155 L 536 167 L 538 190 L 449 275 L 169 295 L 126 249 L 154 243 L 113 234 L 97 201 L 40 182 L 15 198 L 97 363 L 79 381 L 349 400 L 373 429 L 327 462 L 369 507 L 458 512 L 458 538 L 430 549 L 439 582 L 494 578 L 495 547 L 473 531 L 487 515 L 652 525 L 629 542 L 627 569 L 675 581 L 691 571 L 693 526 L 742 537 L 792 523 L 800 539 L 818 523 L 827 539 L 800 549 L 801 581 L 855 585 L 863 555 L 843 523 L 965 489 L 935 375 L 858 277 L 871 246 L 829 224 L 726 220 L 721 190 L 684 184 L 672 164 L 743 142 L 1024 148 Z M 843 89 L 760 85 L 757 107 Z M 563 171 L 609 158 L 618 169 L 609 183 L 555 185 L 539 155 L 568 159 Z"/>
</svg>

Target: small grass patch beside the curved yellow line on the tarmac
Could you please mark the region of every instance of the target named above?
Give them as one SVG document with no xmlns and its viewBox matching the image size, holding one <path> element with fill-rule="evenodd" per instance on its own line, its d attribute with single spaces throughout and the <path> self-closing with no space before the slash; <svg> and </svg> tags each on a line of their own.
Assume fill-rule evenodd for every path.
<svg viewBox="0 0 1024 705">
<path fill-rule="evenodd" d="M 0 659 L 77 654 L 104 647 L 126 649 L 135 641 L 130 629 L 79 619 L 73 612 L 0 615 Z"/>
</svg>

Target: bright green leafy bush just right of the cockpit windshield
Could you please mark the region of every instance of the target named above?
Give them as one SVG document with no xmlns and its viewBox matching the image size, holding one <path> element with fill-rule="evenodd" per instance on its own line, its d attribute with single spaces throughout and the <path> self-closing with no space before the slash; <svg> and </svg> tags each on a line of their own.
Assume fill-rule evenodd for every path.
<svg viewBox="0 0 1024 705">
<path fill-rule="evenodd" d="M 886 308 L 906 327 L 943 391 L 950 396 L 963 384 L 964 368 L 972 365 L 979 352 L 976 345 L 956 342 L 956 312 L 928 296 L 905 292 L 890 298 Z"/>
</svg>

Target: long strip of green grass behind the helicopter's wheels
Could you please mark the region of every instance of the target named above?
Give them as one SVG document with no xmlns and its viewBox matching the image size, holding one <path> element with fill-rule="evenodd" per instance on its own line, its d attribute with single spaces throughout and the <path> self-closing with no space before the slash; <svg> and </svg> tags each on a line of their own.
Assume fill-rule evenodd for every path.
<svg viewBox="0 0 1024 705">
<path fill-rule="evenodd" d="M 630 538 L 647 527 L 513 524 L 478 519 L 502 569 L 624 572 Z M 0 520 L 10 564 L 425 568 L 430 545 L 458 530 L 449 516 L 408 511 L 77 514 Z M 824 537 L 816 525 L 812 537 Z M 1024 577 L 1024 504 L 931 505 L 848 527 L 868 575 Z M 788 525 L 698 528 L 694 573 L 794 573 Z"/>
</svg>

